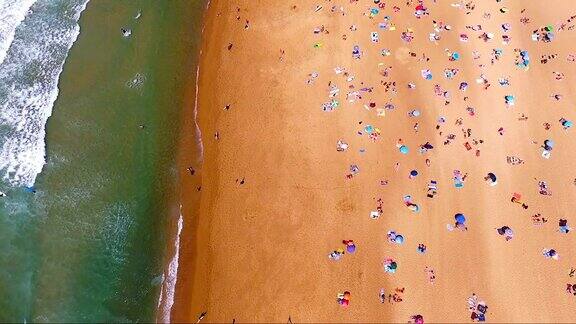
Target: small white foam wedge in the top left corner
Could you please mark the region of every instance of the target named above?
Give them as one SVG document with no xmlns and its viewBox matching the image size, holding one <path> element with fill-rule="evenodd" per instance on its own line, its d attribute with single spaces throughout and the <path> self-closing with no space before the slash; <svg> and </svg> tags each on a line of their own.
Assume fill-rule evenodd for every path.
<svg viewBox="0 0 576 324">
<path fill-rule="evenodd" d="M 0 0 L 0 64 L 14 40 L 16 27 L 26 17 L 36 0 Z"/>
</svg>

